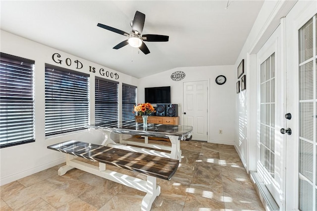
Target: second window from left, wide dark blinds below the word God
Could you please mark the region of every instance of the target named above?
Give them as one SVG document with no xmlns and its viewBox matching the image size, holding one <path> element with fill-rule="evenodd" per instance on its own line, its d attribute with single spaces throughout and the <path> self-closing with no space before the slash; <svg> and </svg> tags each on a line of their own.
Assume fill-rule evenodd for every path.
<svg viewBox="0 0 317 211">
<path fill-rule="evenodd" d="M 89 75 L 45 66 L 45 135 L 85 129 L 89 121 Z"/>
</svg>

